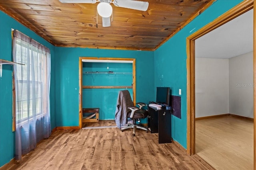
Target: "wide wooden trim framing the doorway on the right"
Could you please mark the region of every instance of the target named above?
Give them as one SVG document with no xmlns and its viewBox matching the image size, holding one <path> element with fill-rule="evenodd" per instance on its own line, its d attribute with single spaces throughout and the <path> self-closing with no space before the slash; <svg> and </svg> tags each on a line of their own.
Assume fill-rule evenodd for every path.
<svg viewBox="0 0 256 170">
<path fill-rule="evenodd" d="M 216 20 L 205 25 L 186 39 L 187 44 L 187 154 L 195 154 L 195 40 L 241 14 L 256 9 L 254 1 L 244 0 Z M 254 10 L 254 85 L 256 85 L 256 14 Z M 254 86 L 254 117 L 256 117 L 256 87 Z M 254 169 L 256 169 L 256 121 L 254 119 Z"/>
</svg>

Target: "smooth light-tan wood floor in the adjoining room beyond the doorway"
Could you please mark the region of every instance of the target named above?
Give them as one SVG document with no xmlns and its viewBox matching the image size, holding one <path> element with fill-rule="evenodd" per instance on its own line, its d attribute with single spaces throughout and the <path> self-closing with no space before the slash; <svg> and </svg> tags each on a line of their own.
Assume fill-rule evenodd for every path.
<svg viewBox="0 0 256 170">
<path fill-rule="evenodd" d="M 196 154 L 217 170 L 253 170 L 253 121 L 233 116 L 196 120 Z"/>
</svg>

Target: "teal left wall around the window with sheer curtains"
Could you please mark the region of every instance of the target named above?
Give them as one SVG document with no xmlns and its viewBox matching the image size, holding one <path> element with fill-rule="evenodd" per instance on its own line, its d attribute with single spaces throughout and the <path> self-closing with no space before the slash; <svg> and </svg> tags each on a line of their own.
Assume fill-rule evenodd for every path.
<svg viewBox="0 0 256 170">
<path fill-rule="evenodd" d="M 0 11 L 0 59 L 12 61 L 11 29 L 18 29 L 22 33 L 48 47 L 51 51 L 51 87 L 50 111 L 51 127 L 55 124 L 55 47 L 32 32 L 24 25 Z M 0 167 L 14 158 L 15 133 L 12 132 L 12 66 L 3 65 L 0 78 Z"/>
</svg>

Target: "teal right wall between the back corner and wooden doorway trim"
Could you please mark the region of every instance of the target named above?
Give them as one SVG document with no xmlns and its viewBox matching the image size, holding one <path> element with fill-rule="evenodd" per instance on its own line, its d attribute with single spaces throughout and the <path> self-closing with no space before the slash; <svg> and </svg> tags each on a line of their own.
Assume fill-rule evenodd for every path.
<svg viewBox="0 0 256 170">
<path fill-rule="evenodd" d="M 172 89 L 172 95 L 181 95 L 181 119 L 172 116 L 172 137 L 186 148 L 187 141 L 187 69 L 186 37 L 210 23 L 224 12 L 236 6 L 241 0 L 218 0 L 206 11 L 192 20 L 176 35 L 159 47 L 154 53 L 155 86 Z"/>
</svg>

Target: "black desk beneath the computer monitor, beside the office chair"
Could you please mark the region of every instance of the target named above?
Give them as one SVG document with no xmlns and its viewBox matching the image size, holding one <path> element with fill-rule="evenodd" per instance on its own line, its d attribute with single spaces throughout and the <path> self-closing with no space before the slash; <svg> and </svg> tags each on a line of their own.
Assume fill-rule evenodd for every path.
<svg viewBox="0 0 256 170">
<path fill-rule="evenodd" d="M 158 133 L 158 143 L 172 143 L 172 110 L 148 106 L 148 128 Z"/>
</svg>

